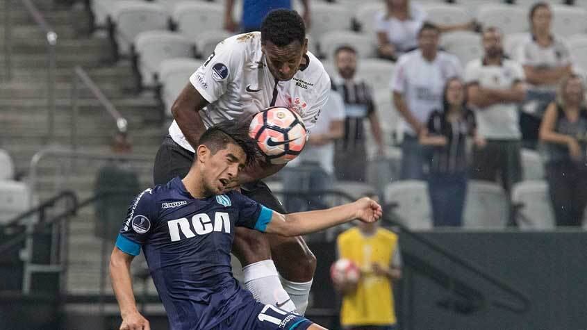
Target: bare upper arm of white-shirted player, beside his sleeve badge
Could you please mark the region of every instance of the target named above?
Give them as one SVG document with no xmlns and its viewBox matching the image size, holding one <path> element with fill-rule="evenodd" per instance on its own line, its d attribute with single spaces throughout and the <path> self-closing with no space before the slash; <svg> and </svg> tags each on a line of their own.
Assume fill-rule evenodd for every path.
<svg viewBox="0 0 587 330">
<path fill-rule="evenodd" d="M 188 83 L 171 108 L 177 126 L 194 149 L 197 149 L 200 136 L 206 131 L 206 126 L 198 113 L 206 104 L 206 99 L 192 83 Z"/>
</svg>

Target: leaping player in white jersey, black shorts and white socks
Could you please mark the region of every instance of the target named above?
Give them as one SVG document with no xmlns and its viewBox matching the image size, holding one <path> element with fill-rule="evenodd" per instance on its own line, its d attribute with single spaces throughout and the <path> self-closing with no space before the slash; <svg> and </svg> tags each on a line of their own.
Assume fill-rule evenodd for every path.
<svg viewBox="0 0 587 330">
<path fill-rule="evenodd" d="M 285 106 L 299 113 L 309 133 L 329 90 L 330 79 L 322 63 L 308 52 L 304 20 L 293 10 L 274 10 L 265 17 L 261 32 L 220 42 L 192 74 L 172 106 L 175 120 L 156 156 L 154 183 L 183 178 L 201 134 L 213 124 L 242 119 L 270 106 Z M 240 185 L 245 196 L 285 213 L 260 181 L 283 166 L 259 161 L 226 188 Z M 316 259 L 302 238 L 240 227 L 233 254 L 244 266 L 245 285 L 256 299 L 304 313 Z"/>
</svg>

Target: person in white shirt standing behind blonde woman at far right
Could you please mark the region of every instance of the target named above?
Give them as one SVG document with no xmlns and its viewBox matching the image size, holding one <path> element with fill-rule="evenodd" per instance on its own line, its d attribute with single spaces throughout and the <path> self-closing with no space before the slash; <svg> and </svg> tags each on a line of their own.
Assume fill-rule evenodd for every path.
<svg viewBox="0 0 587 330">
<path fill-rule="evenodd" d="M 556 97 L 556 88 L 564 76 L 572 73 L 569 47 L 552 34 L 552 11 L 548 3 L 534 4 L 529 12 L 531 32 L 517 51 L 529 83 L 520 128 L 526 147 L 536 147 L 540 120 L 548 104 Z"/>
</svg>

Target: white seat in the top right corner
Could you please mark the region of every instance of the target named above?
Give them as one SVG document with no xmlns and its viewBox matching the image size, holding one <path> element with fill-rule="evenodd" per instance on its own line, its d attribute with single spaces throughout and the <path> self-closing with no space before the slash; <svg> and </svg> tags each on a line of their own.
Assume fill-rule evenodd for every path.
<svg viewBox="0 0 587 330">
<path fill-rule="evenodd" d="M 552 6 L 552 31 L 556 35 L 569 35 L 587 32 L 587 10 L 576 6 Z"/>
</svg>

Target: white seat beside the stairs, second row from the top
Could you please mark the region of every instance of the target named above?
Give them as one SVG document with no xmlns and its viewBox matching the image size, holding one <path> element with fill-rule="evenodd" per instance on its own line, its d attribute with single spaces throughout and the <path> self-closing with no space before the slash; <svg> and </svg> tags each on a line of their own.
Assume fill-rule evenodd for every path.
<svg viewBox="0 0 587 330">
<path fill-rule="evenodd" d="M 135 38 L 135 74 L 139 87 L 154 87 L 163 60 L 195 56 L 195 46 L 179 33 L 145 31 Z"/>
</svg>

